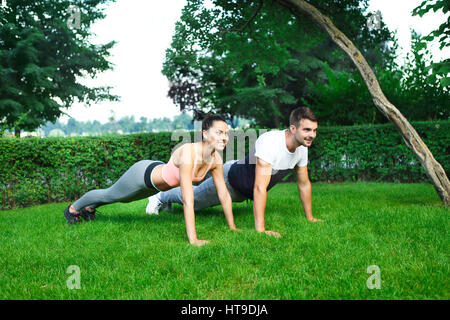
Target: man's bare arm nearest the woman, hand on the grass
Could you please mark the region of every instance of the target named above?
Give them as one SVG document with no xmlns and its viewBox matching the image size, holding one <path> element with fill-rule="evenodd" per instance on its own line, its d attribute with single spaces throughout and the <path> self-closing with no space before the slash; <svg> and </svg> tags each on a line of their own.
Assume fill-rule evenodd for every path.
<svg viewBox="0 0 450 320">
<path fill-rule="evenodd" d="M 272 175 L 272 166 L 256 158 L 255 168 L 255 185 L 253 187 L 253 215 L 255 216 L 255 228 L 259 232 L 264 232 L 268 235 L 280 237 L 278 232 L 266 230 L 265 227 L 265 211 L 267 203 L 267 186 Z"/>
</svg>

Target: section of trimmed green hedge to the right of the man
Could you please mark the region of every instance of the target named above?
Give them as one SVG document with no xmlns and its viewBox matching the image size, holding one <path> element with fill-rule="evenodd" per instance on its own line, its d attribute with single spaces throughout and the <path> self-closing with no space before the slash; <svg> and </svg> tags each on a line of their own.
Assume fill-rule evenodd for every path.
<svg viewBox="0 0 450 320">
<path fill-rule="evenodd" d="M 412 126 L 448 175 L 450 121 Z M 320 128 L 309 152 L 312 181 L 423 182 L 419 160 L 392 125 Z"/>
</svg>

